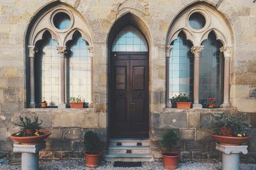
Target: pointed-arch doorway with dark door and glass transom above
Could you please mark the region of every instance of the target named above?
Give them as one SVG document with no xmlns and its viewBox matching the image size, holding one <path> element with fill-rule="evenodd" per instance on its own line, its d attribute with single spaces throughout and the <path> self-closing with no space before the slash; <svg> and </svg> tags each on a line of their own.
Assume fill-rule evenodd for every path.
<svg viewBox="0 0 256 170">
<path fill-rule="evenodd" d="M 111 138 L 148 138 L 148 45 L 126 25 L 114 36 L 110 52 Z"/>
</svg>

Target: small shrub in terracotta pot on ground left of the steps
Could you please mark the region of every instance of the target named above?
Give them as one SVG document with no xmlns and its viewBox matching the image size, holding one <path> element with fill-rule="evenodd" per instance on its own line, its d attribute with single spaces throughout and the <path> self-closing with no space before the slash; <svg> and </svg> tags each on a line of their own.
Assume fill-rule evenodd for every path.
<svg viewBox="0 0 256 170">
<path fill-rule="evenodd" d="M 98 167 L 100 157 L 102 155 L 101 150 L 101 141 L 97 134 L 92 131 L 88 131 L 84 134 L 84 146 L 85 153 L 84 157 L 86 160 L 87 167 Z"/>
</svg>

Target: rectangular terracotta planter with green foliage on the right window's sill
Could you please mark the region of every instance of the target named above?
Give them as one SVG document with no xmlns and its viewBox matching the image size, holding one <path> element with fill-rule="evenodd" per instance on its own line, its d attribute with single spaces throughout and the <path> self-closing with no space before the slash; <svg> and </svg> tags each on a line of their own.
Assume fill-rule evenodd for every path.
<svg viewBox="0 0 256 170">
<path fill-rule="evenodd" d="M 177 108 L 191 108 L 191 98 L 186 94 L 179 94 L 172 97 L 172 103 L 176 103 Z"/>
</svg>

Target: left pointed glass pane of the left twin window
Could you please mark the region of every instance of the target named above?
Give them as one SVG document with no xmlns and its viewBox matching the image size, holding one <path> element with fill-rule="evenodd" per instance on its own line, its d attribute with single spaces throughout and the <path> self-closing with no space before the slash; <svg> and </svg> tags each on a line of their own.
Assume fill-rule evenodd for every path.
<svg viewBox="0 0 256 170">
<path fill-rule="evenodd" d="M 36 103 L 45 100 L 49 106 L 57 106 L 60 103 L 60 56 L 56 50 L 58 43 L 46 31 L 36 46 Z"/>
</svg>

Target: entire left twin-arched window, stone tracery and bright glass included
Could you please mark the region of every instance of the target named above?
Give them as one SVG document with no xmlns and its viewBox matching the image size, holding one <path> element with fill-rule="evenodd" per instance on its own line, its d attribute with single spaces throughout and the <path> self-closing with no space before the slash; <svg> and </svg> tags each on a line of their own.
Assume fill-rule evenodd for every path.
<svg viewBox="0 0 256 170">
<path fill-rule="evenodd" d="M 66 108 L 69 97 L 92 103 L 90 27 L 76 10 L 62 3 L 40 13 L 29 25 L 26 38 L 29 107 L 40 107 L 45 100 L 48 106 Z"/>
</svg>

